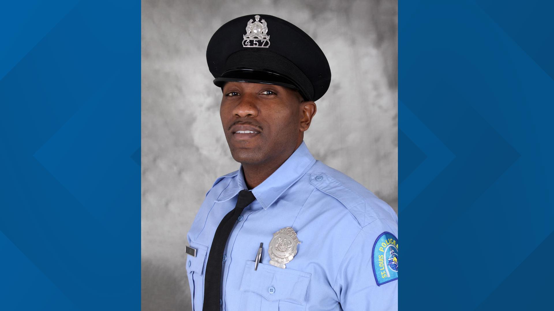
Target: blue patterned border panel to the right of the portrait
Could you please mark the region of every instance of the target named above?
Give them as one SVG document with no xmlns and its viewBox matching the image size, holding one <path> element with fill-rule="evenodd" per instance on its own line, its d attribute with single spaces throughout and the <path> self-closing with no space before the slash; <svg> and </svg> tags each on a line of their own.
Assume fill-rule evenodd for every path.
<svg viewBox="0 0 554 311">
<path fill-rule="evenodd" d="M 401 310 L 551 305 L 552 12 L 399 3 Z"/>
</svg>

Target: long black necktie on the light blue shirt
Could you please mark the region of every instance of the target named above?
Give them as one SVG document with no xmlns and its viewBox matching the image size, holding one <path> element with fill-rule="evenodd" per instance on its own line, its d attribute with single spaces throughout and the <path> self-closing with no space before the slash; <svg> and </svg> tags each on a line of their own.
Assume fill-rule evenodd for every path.
<svg viewBox="0 0 554 311">
<path fill-rule="evenodd" d="M 241 190 L 235 209 L 228 212 L 217 226 L 210 248 L 206 274 L 204 275 L 204 307 L 203 311 L 219 311 L 219 297 L 221 296 L 221 269 L 223 265 L 223 251 L 229 239 L 229 234 L 239 215 L 245 207 L 255 200 L 252 192 Z"/>
</svg>

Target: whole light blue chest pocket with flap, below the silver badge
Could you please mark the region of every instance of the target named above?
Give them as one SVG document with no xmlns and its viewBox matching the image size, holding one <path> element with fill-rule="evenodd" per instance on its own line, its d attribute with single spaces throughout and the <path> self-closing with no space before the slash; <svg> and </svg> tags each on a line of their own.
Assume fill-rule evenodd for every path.
<svg viewBox="0 0 554 311">
<path fill-rule="evenodd" d="M 300 311 L 306 309 L 310 273 L 247 261 L 240 284 L 241 311 Z"/>
</svg>

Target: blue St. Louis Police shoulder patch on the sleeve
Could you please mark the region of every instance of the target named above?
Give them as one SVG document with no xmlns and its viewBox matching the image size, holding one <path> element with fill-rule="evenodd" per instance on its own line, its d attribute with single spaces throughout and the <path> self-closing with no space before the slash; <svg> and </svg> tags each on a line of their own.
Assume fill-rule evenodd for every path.
<svg viewBox="0 0 554 311">
<path fill-rule="evenodd" d="M 373 275 L 377 286 L 398 279 L 398 239 L 391 232 L 383 232 L 373 243 L 371 252 Z"/>
</svg>

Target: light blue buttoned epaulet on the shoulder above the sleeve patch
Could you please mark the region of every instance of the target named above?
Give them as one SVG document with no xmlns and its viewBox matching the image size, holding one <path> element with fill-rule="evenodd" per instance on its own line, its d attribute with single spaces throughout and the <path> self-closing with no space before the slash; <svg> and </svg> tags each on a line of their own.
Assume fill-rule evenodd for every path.
<svg viewBox="0 0 554 311">
<path fill-rule="evenodd" d="M 365 227 L 378 218 L 392 219 L 396 216 L 388 204 L 360 183 L 321 162 L 317 164 L 308 172 L 310 183 L 340 201 L 360 226 Z"/>
</svg>

